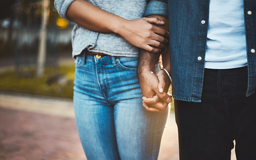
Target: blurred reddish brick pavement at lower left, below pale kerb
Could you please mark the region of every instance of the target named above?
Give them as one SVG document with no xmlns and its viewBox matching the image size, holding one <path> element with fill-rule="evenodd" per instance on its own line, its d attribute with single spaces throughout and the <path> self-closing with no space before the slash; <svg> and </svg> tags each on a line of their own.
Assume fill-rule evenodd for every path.
<svg viewBox="0 0 256 160">
<path fill-rule="evenodd" d="M 0 160 L 86 160 L 72 118 L 0 108 Z"/>
</svg>

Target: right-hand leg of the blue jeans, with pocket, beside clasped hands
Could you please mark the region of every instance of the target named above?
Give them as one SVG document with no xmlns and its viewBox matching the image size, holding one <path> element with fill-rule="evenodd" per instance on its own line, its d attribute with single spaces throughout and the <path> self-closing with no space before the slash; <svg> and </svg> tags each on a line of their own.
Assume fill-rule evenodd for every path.
<svg viewBox="0 0 256 160">
<path fill-rule="evenodd" d="M 157 160 L 169 108 L 165 113 L 147 111 L 137 79 L 136 58 L 117 58 L 117 69 L 109 80 L 114 104 L 118 150 L 121 160 Z"/>
</svg>

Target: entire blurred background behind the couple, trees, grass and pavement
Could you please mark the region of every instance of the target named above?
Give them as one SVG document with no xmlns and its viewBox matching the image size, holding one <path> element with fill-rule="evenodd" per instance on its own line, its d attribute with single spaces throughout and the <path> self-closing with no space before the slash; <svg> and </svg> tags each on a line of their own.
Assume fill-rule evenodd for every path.
<svg viewBox="0 0 256 160">
<path fill-rule="evenodd" d="M 73 26 L 54 0 L 0 0 L 0 160 L 86 160 L 72 103 Z M 167 126 L 159 160 L 179 160 L 173 103 Z"/>
</svg>

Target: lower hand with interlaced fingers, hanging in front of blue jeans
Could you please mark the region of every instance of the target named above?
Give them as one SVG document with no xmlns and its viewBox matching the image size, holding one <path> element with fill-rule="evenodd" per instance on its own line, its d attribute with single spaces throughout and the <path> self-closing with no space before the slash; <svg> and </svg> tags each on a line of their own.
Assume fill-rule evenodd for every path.
<svg viewBox="0 0 256 160">
<path fill-rule="evenodd" d="M 143 104 L 148 111 L 164 112 L 171 102 L 171 96 L 167 94 L 168 88 L 165 87 L 161 93 L 158 90 L 158 78 L 154 73 L 143 72 L 139 75 L 140 86 L 143 94 Z M 156 95 L 157 94 L 157 95 Z M 161 100 L 160 99 L 164 99 Z"/>
</svg>

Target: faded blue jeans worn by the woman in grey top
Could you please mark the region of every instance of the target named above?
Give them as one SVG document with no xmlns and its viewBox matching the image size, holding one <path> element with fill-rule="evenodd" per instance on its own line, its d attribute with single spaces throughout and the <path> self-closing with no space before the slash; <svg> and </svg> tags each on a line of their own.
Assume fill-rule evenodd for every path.
<svg viewBox="0 0 256 160">
<path fill-rule="evenodd" d="M 143 107 L 137 60 L 76 57 L 75 117 L 88 160 L 157 160 L 169 109 Z"/>
</svg>

